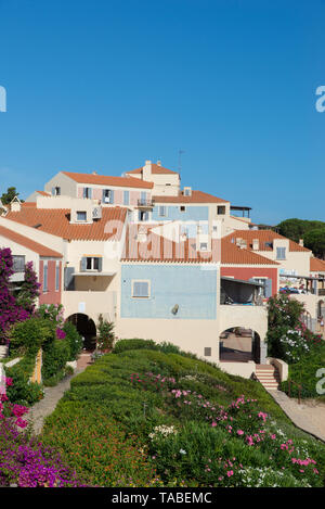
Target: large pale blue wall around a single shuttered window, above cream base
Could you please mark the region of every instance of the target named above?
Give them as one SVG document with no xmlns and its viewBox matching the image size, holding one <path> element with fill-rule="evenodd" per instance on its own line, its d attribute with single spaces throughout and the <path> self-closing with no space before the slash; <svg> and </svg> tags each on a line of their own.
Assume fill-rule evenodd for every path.
<svg viewBox="0 0 325 509">
<path fill-rule="evenodd" d="M 121 318 L 216 319 L 217 269 L 194 265 L 122 265 Z M 148 298 L 132 297 L 132 280 L 150 280 Z M 171 313 L 179 305 L 177 315 Z"/>
</svg>

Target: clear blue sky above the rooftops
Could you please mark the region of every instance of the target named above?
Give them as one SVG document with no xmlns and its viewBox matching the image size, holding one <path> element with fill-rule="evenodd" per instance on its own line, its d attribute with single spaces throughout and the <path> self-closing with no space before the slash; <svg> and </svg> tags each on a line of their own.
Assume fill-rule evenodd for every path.
<svg viewBox="0 0 325 509">
<path fill-rule="evenodd" d="M 182 149 L 182 184 L 325 220 L 324 20 L 321 0 L 0 0 L 0 195 Z"/>
</svg>

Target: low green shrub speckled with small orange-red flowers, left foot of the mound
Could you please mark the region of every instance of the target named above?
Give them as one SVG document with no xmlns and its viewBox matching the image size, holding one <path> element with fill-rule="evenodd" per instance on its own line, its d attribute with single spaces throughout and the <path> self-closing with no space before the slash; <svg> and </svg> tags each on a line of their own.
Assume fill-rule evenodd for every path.
<svg viewBox="0 0 325 509">
<path fill-rule="evenodd" d="M 141 444 L 134 437 L 127 438 L 102 408 L 60 403 L 46 421 L 42 443 L 58 448 L 89 485 L 153 485 L 155 471 Z"/>
</svg>

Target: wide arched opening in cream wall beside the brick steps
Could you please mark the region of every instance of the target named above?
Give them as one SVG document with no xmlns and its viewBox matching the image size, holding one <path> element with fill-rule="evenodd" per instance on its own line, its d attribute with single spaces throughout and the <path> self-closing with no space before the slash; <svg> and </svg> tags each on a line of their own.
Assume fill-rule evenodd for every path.
<svg viewBox="0 0 325 509">
<path fill-rule="evenodd" d="M 261 340 L 252 329 L 233 327 L 226 329 L 219 338 L 219 359 L 230 362 L 260 362 Z"/>
</svg>

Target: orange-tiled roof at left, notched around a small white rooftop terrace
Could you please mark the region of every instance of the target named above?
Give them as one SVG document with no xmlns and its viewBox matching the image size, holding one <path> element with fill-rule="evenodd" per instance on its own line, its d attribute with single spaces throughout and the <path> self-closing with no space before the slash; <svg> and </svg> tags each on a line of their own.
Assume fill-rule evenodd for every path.
<svg viewBox="0 0 325 509">
<path fill-rule="evenodd" d="M 102 218 L 92 224 L 70 225 L 68 208 L 22 208 L 5 218 L 70 240 L 116 240 L 120 238 L 127 208 L 103 207 Z"/>
</svg>

